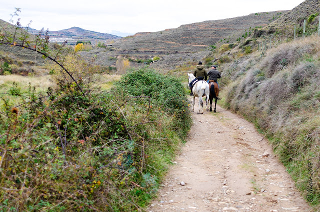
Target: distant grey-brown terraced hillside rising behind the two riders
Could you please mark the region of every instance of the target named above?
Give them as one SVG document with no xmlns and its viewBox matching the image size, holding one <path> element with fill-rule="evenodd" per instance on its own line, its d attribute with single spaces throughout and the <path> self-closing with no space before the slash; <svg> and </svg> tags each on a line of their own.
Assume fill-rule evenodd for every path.
<svg viewBox="0 0 320 212">
<path fill-rule="evenodd" d="M 153 68 L 174 69 L 186 62 L 196 62 L 207 56 L 210 45 L 220 41 L 234 43 L 250 28 L 266 26 L 278 18 L 279 14 L 286 12 L 287 10 L 252 13 L 228 19 L 190 23 L 157 32 L 138 32 L 116 40 L 109 50 L 81 52 L 81 55 L 87 58 L 94 55 L 100 65 L 112 65 L 112 62 L 115 64 L 115 60 L 109 58 L 119 55 L 141 59 L 159 56 L 161 59 L 151 65 Z"/>
</svg>

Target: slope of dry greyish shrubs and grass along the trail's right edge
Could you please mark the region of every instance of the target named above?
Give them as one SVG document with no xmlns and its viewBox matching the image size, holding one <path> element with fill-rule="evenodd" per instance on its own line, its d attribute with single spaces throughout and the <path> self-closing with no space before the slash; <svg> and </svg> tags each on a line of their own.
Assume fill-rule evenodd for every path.
<svg viewBox="0 0 320 212">
<path fill-rule="evenodd" d="M 223 105 L 268 136 L 303 196 L 320 209 L 319 37 L 234 60 L 224 72 L 232 82 L 222 92 Z"/>
</svg>

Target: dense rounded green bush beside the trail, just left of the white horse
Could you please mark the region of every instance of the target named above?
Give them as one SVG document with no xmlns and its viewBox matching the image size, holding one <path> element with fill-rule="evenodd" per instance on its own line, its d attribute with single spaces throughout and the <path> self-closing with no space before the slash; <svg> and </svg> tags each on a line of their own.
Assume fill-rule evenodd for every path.
<svg viewBox="0 0 320 212">
<path fill-rule="evenodd" d="M 190 113 L 186 109 L 188 102 L 184 96 L 184 88 L 177 79 L 164 76 L 153 69 L 142 68 L 124 75 L 116 87 L 128 95 L 151 96 L 156 104 L 174 115 L 174 124 L 180 129 L 179 134 L 182 137 L 186 135 L 191 124 Z"/>
</svg>

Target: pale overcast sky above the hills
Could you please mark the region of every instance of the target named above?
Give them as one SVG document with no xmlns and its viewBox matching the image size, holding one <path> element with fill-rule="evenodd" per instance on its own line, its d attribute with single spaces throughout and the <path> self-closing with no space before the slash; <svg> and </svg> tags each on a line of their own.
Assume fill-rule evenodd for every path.
<svg viewBox="0 0 320 212">
<path fill-rule="evenodd" d="M 1 2 L 2 1 L 2 2 Z M 288 10 L 303 0 L 0 0 L 0 19 L 21 8 L 22 25 L 60 30 L 78 26 L 109 33 L 136 33 L 182 24 Z"/>
</svg>

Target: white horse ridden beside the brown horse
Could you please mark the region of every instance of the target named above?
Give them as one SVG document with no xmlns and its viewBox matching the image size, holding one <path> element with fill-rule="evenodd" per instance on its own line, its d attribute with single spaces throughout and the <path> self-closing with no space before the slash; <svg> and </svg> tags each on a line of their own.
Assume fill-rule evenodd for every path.
<svg viewBox="0 0 320 212">
<path fill-rule="evenodd" d="M 188 73 L 189 83 L 195 78 L 193 73 Z M 203 101 L 202 96 L 205 96 L 206 101 L 206 111 L 209 111 L 209 84 L 205 80 L 197 81 L 192 87 L 193 92 L 193 102 L 192 102 L 192 112 L 194 111 L 194 100 L 195 97 L 199 97 L 199 110 L 198 113 L 203 114 Z"/>
</svg>

